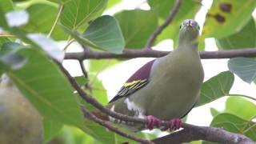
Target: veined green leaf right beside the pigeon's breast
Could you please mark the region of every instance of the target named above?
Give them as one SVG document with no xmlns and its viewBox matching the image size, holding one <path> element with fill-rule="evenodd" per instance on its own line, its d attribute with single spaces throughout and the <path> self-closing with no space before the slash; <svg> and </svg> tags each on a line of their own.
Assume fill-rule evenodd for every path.
<svg viewBox="0 0 256 144">
<path fill-rule="evenodd" d="M 201 87 L 200 98 L 197 106 L 202 106 L 218 98 L 228 95 L 234 83 L 234 75 L 230 71 L 222 72 L 208 81 Z"/>
</svg>

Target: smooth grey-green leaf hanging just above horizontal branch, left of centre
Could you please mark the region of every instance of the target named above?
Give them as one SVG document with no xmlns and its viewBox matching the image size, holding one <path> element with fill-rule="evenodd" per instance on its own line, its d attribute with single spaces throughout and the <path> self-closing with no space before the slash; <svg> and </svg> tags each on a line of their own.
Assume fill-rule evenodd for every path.
<svg viewBox="0 0 256 144">
<path fill-rule="evenodd" d="M 82 37 L 90 40 L 102 50 L 116 54 L 122 53 L 125 47 L 118 21 L 109 15 L 104 15 L 91 22 Z"/>
</svg>

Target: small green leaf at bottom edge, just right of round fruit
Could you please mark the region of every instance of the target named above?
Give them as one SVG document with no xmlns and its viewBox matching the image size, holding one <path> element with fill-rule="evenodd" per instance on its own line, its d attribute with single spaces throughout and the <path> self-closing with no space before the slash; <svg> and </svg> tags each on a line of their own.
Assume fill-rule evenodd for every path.
<svg viewBox="0 0 256 144">
<path fill-rule="evenodd" d="M 42 122 L 44 143 L 47 143 L 62 130 L 63 125 L 60 122 L 50 121 L 48 118 L 43 118 Z"/>
</svg>

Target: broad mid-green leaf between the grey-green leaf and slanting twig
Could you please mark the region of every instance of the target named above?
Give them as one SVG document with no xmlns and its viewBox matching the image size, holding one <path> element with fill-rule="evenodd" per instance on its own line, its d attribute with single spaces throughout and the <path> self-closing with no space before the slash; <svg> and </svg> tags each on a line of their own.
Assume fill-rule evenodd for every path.
<svg viewBox="0 0 256 144">
<path fill-rule="evenodd" d="M 122 29 L 128 48 L 142 48 L 158 26 L 157 14 L 151 10 L 124 10 L 114 15 Z"/>
</svg>

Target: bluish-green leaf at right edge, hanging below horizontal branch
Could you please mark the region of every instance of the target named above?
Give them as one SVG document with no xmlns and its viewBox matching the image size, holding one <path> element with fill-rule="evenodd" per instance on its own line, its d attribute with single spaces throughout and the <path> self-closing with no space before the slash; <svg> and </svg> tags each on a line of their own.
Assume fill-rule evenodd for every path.
<svg viewBox="0 0 256 144">
<path fill-rule="evenodd" d="M 256 78 L 256 60 L 252 58 L 231 58 L 228 61 L 228 67 L 244 82 L 250 83 Z"/>
</svg>

